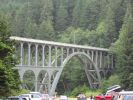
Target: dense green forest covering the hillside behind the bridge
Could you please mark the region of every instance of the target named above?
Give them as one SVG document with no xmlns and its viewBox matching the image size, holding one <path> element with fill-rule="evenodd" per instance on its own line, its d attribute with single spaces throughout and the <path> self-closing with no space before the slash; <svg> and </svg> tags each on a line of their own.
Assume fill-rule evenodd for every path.
<svg viewBox="0 0 133 100">
<path fill-rule="evenodd" d="M 0 0 L 0 16 L 6 18 L 12 36 L 110 49 L 117 81 L 109 83 L 108 77 L 104 88 L 119 83 L 133 90 L 133 0 Z M 6 43 L 1 38 L 0 42 Z M 66 65 L 58 92 L 88 85 L 81 66 L 76 58 Z"/>
</svg>

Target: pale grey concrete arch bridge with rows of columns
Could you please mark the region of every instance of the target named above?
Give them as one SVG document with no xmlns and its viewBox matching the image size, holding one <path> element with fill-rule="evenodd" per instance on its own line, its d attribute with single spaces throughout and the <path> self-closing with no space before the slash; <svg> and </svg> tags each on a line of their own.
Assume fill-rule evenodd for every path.
<svg viewBox="0 0 133 100">
<path fill-rule="evenodd" d="M 32 91 L 53 95 L 62 70 L 72 57 L 83 63 L 91 88 L 99 87 L 114 67 L 113 55 L 105 48 L 15 36 L 10 39 L 16 41 L 15 56 L 20 59 L 14 69 L 19 71 L 22 87 Z"/>
</svg>

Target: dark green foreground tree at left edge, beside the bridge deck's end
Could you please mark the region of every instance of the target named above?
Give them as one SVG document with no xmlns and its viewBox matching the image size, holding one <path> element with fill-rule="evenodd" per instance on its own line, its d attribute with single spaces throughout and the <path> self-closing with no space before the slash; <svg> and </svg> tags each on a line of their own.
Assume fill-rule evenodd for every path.
<svg viewBox="0 0 133 100">
<path fill-rule="evenodd" d="M 10 41 L 8 24 L 0 19 L 0 96 L 9 96 L 12 90 L 19 89 L 19 75 L 13 70 L 16 59 L 13 57 L 14 42 Z"/>
</svg>

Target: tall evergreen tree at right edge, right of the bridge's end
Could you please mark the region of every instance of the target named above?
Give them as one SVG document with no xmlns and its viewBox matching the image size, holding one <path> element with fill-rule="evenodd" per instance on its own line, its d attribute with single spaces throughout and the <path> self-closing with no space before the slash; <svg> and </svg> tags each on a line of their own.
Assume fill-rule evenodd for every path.
<svg viewBox="0 0 133 100">
<path fill-rule="evenodd" d="M 117 55 L 117 68 L 122 86 L 126 90 L 133 89 L 133 13 L 132 3 L 127 3 L 127 11 L 119 39 L 114 45 Z"/>
</svg>

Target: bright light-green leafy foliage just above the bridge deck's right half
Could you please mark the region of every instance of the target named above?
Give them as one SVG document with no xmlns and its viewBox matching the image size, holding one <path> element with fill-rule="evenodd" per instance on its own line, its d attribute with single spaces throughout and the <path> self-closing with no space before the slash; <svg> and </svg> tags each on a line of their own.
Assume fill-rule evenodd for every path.
<svg viewBox="0 0 133 100">
<path fill-rule="evenodd" d="M 59 41 L 80 44 L 80 45 L 89 45 L 96 47 L 104 47 L 104 40 L 102 39 L 103 34 L 98 33 L 97 31 L 82 30 L 81 28 L 69 27 L 64 31 L 63 35 L 59 35 Z"/>
</svg>

